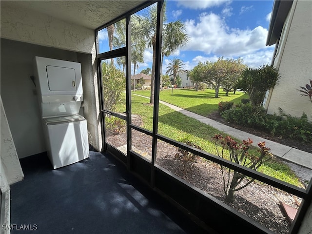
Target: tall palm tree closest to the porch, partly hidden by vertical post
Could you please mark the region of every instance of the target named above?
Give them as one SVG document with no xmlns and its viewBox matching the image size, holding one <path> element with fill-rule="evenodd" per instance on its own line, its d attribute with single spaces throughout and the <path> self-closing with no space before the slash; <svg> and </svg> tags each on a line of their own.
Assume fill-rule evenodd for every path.
<svg viewBox="0 0 312 234">
<path fill-rule="evenodd" d="M 165 16 L 166 5 L 163 5 L 163 21 Z M 151 98 L 150 103 L 154 103 L 154 86 L 155 86 L 155 62 L 156 62 L 156 22 L 157 22 L 157 7 L 151 6 L 147 14 L 142 16 L 134 15 L 132 24 L 132 31 L 137 32 L 137 36 L 148 41 L 148 47 L 153 49 L 153 65 L 152 65 L 152 80 L 151 80 Z M 163 40 L 166 51 L 164 55 L 168 56 L 181 45 L 188 41 L 188 36 L 184 33 L 184 25 L 178 20 L 176 22 L 163 24 Z M 180 36 L 178 36 L 180 35 Z M 181 36 L 183 35 L 183 36 Z M 178 39 L 175 38 L 177 36 Z M 165 39 L 170 37 L 171 39 Z M 179 43 L 178 43 L 179 42 Z M 182 43 L 183 42 L 183 43 Z"/>
</svg>

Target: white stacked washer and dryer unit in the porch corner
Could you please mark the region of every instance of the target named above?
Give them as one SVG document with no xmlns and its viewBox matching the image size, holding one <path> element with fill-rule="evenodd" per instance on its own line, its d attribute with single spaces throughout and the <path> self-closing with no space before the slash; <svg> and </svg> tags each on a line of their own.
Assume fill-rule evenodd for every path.
<svg viewBox="0 0 312 234">
<path fill-rule="evenodd" d="M 89 157 L 87 120 L 80 116 L 81 66 L 78 62 L 34 58 L 43 132 L 54 169 Z"/>
</svg>

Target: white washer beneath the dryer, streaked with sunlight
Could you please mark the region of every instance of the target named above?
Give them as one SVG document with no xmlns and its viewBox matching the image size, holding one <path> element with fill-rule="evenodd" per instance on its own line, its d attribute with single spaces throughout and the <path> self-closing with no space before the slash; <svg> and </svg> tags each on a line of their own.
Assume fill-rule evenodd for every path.
<svg viewBox="0 0 312 234">
<path fill-rule="evenodd" d="M 89 157 L 87 120 L 80 115 L 43 118 L 48 156 L 54 169 Z"/>
</svg>

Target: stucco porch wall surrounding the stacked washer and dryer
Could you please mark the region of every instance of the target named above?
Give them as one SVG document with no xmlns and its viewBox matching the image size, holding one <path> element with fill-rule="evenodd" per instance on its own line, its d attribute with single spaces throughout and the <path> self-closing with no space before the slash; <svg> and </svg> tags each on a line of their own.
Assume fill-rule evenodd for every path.
<svg viewBox="0 0 312 234">
<path fill-rule="evenodd" d="M 1 3 L 1 97 L 20 158 L 46 151 L 32 59 L 81 63 L 89 143 L 101 150 L 94 30 Z"/>
</svg>

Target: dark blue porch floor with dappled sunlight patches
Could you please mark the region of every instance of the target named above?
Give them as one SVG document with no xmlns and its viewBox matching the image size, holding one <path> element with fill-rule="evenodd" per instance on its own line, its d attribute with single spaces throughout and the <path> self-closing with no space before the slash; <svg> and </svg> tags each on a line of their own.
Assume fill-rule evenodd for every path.
<svg viewBox="0 0 312 234">
<path fill-rule="evenodd" d="M 204 233 L 109 154 L 90 152 L 56 170 L 46 154 L 20 162 L 25 178 L 11 186 L 11 224 L 37 230 L 12 234 Z"/>
</svg>

